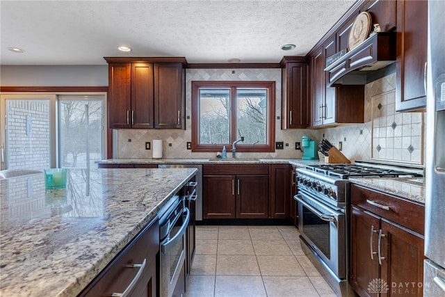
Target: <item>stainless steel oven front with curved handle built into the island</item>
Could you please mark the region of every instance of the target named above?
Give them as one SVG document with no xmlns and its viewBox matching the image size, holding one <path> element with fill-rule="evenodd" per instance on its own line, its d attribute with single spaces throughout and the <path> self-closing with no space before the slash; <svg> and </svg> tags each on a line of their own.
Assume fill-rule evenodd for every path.
<svg viewBox="0 0 445 297">
<path fill-rule="evenodd" d="M 190 211 L 184 211 L 175 219 L 167 238 L 161 241 L 161 289 L 160 295 L 172 296 L 178 282 L 184 282 L 186 263 L 186 230 L 190 220 Z"/>
</svg>

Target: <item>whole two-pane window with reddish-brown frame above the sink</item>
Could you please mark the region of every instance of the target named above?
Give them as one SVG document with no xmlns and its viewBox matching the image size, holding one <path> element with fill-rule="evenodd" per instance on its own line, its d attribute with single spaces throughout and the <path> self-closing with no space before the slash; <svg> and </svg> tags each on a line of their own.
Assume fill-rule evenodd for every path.
<svg viewBox="0 0 445 297">
<path fill-rule="evenodd" d="M 193 81 L 192 105 L 195 151 L 220 150 L 241 137 L 238 152 L 273 151 L 275 82 Z"/>
</svg>

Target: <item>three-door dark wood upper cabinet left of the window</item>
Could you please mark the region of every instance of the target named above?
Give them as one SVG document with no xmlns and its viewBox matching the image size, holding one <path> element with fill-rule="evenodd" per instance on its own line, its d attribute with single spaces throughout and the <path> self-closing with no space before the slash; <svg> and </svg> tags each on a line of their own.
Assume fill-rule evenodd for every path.
<svg viewBox="0 0 445 297">
<path fill-rule="evenodd" d="M 110 129 L 185 128 L 184 58 L 105 60 Z"/>
</svg>

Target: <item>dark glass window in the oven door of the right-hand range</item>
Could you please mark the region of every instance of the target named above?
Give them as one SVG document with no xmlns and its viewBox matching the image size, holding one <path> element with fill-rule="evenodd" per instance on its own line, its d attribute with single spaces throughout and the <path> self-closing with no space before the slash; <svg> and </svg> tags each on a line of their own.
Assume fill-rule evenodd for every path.
<svg viewBox="0 0 445 297">
<path fill-rule="evenodd" d="M 312 211 L 303 208 L 303 230 L 305 235 L 312 240 L 318 250 L 330 259 L 330 223 L 318 218 Z"/>
</svg>

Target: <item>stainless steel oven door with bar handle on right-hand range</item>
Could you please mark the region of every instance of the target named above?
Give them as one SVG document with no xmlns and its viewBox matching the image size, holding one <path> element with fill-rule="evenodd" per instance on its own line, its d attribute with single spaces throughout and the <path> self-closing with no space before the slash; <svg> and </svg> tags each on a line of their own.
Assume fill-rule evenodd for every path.
<svg viewBox="0 0 445 297">
<path fill-rule="evenodd" d="M 310 193 L 299 191 L 298 224 L 303 239 L 337 275 L 346 278 L 346 229 L 343 209 L 334 209 Z"/>
</svg>

